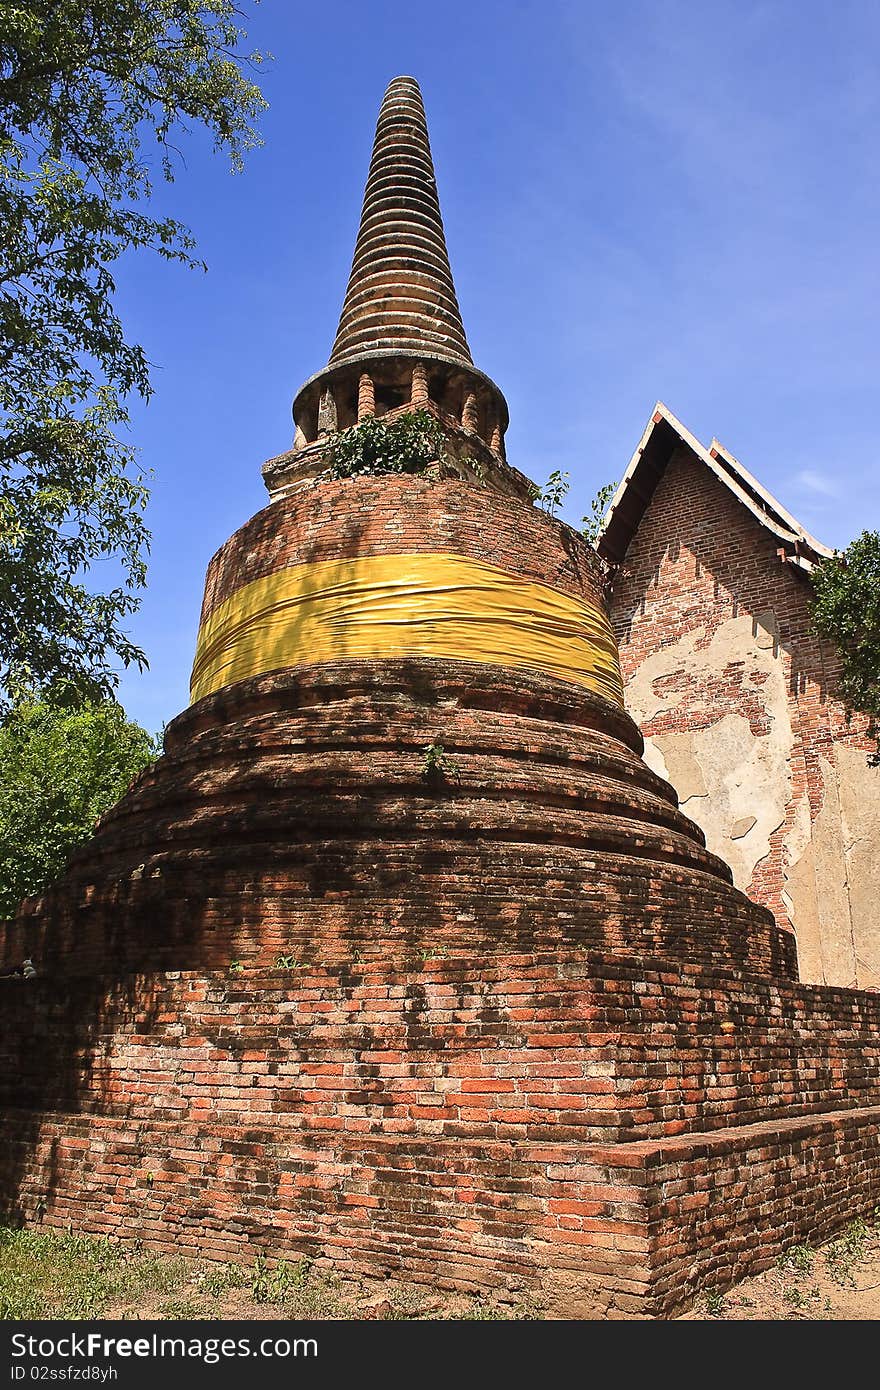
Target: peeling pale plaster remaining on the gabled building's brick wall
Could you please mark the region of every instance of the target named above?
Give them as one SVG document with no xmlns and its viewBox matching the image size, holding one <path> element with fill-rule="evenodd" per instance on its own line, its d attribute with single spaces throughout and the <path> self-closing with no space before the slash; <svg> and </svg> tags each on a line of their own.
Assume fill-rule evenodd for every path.
<svg viewBox="0 0 880 1390">
<path fill-rule="evenodd" d="M 645 762 L 673 784 L 744 892 L 770 853 L 770 837 L 788 821 L 783 902 L 801 977 L 880 988 L 880 769 L 869 767 L 863 751 L 829 744 L 815 821 L 805 792 L 792 803 L 784 656 L 772 613 L 728 619 L 710 638 L 696 628 L 652 652 L 627 685 L 627 708 L 642 731 L 659 714 L 674 723 L 677 712 L 691 726 L 646 734 Z M 727 709 L 717 696 L 724 678 Z M 753 734 L 742 713 L 747 692 L 758 696 L 766 733 Z"/>
</svg>

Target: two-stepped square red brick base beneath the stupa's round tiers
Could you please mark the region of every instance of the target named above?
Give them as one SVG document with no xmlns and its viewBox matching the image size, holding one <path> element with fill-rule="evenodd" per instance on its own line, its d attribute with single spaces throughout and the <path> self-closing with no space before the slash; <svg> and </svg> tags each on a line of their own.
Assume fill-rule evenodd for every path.
<svg viewBox="0 0 880 1390">
<path fill-rule="evenodd" d="M 667 1316 L 880 1200 L 880 998 L 577 948 L 4 987 L 6 1219 Z"/>
</svg>

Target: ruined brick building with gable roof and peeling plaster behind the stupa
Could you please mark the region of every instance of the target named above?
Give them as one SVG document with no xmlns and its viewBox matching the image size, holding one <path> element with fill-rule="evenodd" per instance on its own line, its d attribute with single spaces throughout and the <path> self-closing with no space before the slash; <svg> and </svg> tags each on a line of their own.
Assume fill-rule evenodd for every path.
<svg viewBox="0 0 880 1390">
<path fill-rule="evenodd" d="M 809 620 L 831 552 L 717 439 L 658 404 L 605 518 L 626 705 L 801 979 L 880 987 L 880 770 Z"/>
</svg>

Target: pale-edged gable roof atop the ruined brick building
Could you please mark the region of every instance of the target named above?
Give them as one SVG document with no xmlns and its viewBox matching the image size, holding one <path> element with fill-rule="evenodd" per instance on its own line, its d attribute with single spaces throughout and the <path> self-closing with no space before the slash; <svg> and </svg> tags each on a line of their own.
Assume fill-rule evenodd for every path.
<svg viewBox="0 0 880 1390">
<path fill-rule="evenodd" d="M 602 518 L 596 548 L 599 555 L 612 564 L 623 562 L 669 460 L 683 443 L 770 532 L 777 541 L 781 560 L 810 574 L 820 560 L 834 555 L 827 545 L 816 541 L 717 439 L 713 439 L 706 449 L 690 430 L 685 430 L 671 410 L 662 400 L 658 400 L 630 466 Z"/>
</svg>

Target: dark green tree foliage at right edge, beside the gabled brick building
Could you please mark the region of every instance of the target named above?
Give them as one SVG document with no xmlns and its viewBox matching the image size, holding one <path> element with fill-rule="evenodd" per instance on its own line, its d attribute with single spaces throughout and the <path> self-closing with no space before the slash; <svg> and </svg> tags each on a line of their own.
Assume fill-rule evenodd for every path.
<svg viewBox="0 0 880 1390">
<path fill-rule="evenodd" d="M 813 570 L 813 626 L 840 657 L 837 694 L 849 713 L 867 714 L 870 755 L 880 767 L 880 532 L 862 531 L 841 555 Z"/>
</svg>

